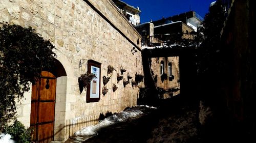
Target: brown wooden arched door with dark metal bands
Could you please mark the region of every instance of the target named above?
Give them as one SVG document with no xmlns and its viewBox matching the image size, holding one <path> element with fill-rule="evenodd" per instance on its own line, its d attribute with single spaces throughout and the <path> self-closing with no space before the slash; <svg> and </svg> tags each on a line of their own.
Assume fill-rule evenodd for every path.
<svg viewBox="0 0 256 143">
<path fill-rule="evenodd" d="M 40 80 L 32 87 L 30 127 L 35 142 L 48 143 L 53 140 L 55 97 L 56 77 L 42 71 Z"/>
</svg>

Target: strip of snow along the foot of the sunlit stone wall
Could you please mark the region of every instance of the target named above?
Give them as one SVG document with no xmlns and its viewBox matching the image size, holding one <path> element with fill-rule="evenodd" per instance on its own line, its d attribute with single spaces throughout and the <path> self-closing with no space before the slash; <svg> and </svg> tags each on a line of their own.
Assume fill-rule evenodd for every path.
<svg viewBox="0 0 256 143">
<path fill-rule="evenodd" d="M 156 109 L 156 107 L 150 107 L 147 105 L 142 105 L 142 106 L 138 106 L 138 107 L 146 107 L 146 108 Z M 142 114 L 143 114 L 143 112 L 140 110 L 140 108 L 129 108 L 129 109 L 126 109 L 125 111 L 116 113 L 113 116 L 105 118 L 104 120 L 100 121 L 99 124 L 97 124 L 97 125 L 84 127 L 81 130 L 76 131 L 74 135 L 75 136 L 92 136 L 92 135 L 97 134 L 101 128 L 113 125 L 118 122 L 125 122 L 127 119 L 135 118 Z"/>
</svg>

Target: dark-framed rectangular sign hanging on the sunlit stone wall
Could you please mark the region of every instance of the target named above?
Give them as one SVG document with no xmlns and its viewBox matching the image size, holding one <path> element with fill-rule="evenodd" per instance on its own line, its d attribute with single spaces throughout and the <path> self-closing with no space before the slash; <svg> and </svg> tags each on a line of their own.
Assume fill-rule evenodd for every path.
<svg viewBox="0 0 256 143">
<path fill-rule="evenodd" d="M 100 63 L 88 60 L 88 72 L 96 75 L 87 87 L 86 102 L 98 102 L 100 100 Z"/>
</svg>

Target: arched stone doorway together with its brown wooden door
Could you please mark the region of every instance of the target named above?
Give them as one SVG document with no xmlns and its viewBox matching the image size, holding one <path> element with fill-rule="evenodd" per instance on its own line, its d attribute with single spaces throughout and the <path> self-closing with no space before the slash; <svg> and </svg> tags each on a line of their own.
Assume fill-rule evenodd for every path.
<svg viewBox="0 0 256 143">
<path fill-rule="evenodd" d="M 51 69 L 43 69 L 41 75 L 40 81 L 32 87 L 30 126 L 34 128 L 33 140 L 63 140 L 67 94 L 66 70 L 55 59 L 54 66 Z M 49 85 L 47 87 L 48 83 L 51 88 L 48 88 Z"/>
</svg>

